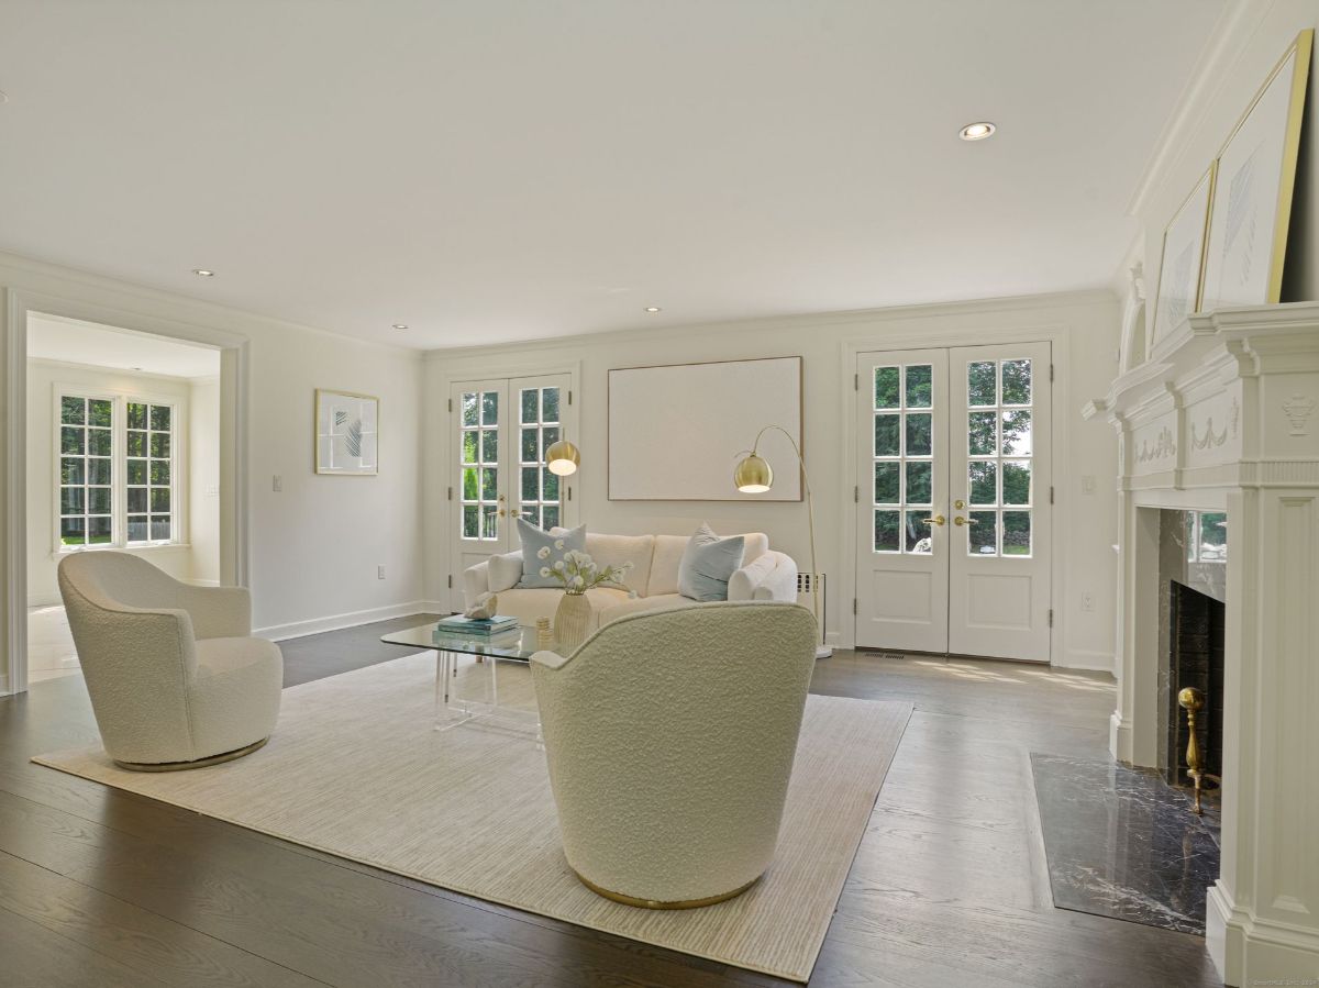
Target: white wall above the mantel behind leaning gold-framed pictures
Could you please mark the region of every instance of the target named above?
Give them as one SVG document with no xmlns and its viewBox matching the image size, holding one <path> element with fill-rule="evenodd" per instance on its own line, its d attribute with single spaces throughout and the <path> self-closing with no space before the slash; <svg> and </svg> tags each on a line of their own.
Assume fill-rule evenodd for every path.
<svg viewBox="0 0 1319 988">
<path fill-rule="evenodd" d="M 1154 294 L 1163 231 L 1258 87 L 1295 36 L 1319 25 L 1319 0 L 1237 0 L 1170 120 L 1163 145 L 1151 158 L 1133 211 L 1146 272 L 1146 323 L 1153 327 Z M 1289 232 L 1282 301 L 1319 298 L 1319 79 L 1310 69 L 1310 98 L 1301 136 L 1301 160 Z M 1124 274 L 1117 276 L 1124 280 Z M 1146 334 L 1149 339 L 1149 334 Z M 1103 393 L 1103 392 L 1100 392 Z"/>
</svg>

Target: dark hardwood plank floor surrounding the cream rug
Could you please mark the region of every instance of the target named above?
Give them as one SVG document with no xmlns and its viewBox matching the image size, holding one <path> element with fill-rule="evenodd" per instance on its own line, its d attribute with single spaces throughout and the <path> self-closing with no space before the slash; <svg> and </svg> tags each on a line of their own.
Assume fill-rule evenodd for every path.
<svg viewBox="0 0 1319 988">
<path fill-rule="evenodd" d="M 282 644 L 286 685 L 423 617 Z M 840 652 L 813 691 L 915 714 L 813 985 L 1216 985 L 1204 941 L 1054 909 L 1030 752 L 1105 757 L 1105 677 Z M 96 739 L 82 679 L 0 699 L 0 985 L 777 985 L 33 765 Z M 383 807 L 388 811 L 388 807 Z"/>
</svg>

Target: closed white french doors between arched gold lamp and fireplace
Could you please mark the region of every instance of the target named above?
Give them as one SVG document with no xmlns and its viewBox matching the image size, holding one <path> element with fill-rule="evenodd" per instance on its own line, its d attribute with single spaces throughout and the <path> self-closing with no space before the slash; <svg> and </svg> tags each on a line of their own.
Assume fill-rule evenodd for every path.
<svg viewBox="0 0 1319 988">
<path fill-rule="evenodd" d="M 857 355 L 856 644 L 1049 661 L 1047 343 Z"/>
</svg>

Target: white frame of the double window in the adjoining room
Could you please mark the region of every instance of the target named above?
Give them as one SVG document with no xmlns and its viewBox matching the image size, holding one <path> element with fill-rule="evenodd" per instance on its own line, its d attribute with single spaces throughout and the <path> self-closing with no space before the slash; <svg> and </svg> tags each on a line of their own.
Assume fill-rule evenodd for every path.
<svg viewBox="0 0 1319 988">
<path fill-rule="evenodd" d="M 69 546 L 63 542 L 61 532 L 61 427 L 63 425 L 63 400 L 87 398 L 92 401 L 111 402 L 111 541 L 100 545 Z M 169 489 L 170 489 L 170 538 L 148 540 L 144 542 L 128 541 L 128 405 L 158 405 L 170 409 L 170 443 L 169 443 Z M 187 463 L 183 447 L 187 437 L 187 400 L 178 394 L 158 394 L 145 390 L 116 390 L 88 386 L 82 384 L 55 384 L 51 402 L 51 555 L 67 555 L 70 553 L 95 553 L 102 550 L 153 550 L 168 547 L 183 547 L 187 545 L 187 479 L 183 464 Z M 150 459 L 148 458 L 148 471 Z M 148 476 L 148 484 L 149 484 Z M 150 488 L 148 487 L 148 497 Z M 148 504 L 148 517 L 150 505 Z M 148 522 L 149 526 L 150 522 Z M 148 528 L 149 532 L 149 528 Z"/>
</svg>

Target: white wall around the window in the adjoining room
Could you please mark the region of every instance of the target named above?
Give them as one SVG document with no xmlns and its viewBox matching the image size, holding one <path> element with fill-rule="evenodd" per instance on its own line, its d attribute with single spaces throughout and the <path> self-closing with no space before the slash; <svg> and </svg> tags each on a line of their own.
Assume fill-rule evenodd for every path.
<svg viewBox="0 0 1319 988">
<path fill-rule="evenodd" d="M 32 607 L 59 603 L 59 586 L 55 580 L 59 555 L 54 522 L 54 396 L 55 388 L 59 385 L 86 388 L 88 393 L 94 394 L 170 398 L 185 417 L 191 396 L 189 383 L 179 377 L 80 367 L 53 360 L 28 361 L 28 604 Z M 183 435 L 189 435 L 186 421 Z M 177 460 L 182 476 L 189 478 L 191 472 L 190 448 L 190 443 L 182 443 Z M 177 579 L 190 579 L 194 563 L 193 553 L 186 545 L 189 517 L 190 513 L 183 520 L 183 545 L 149 546 L 127 551 L 150 559 Z"/>
</svg>

